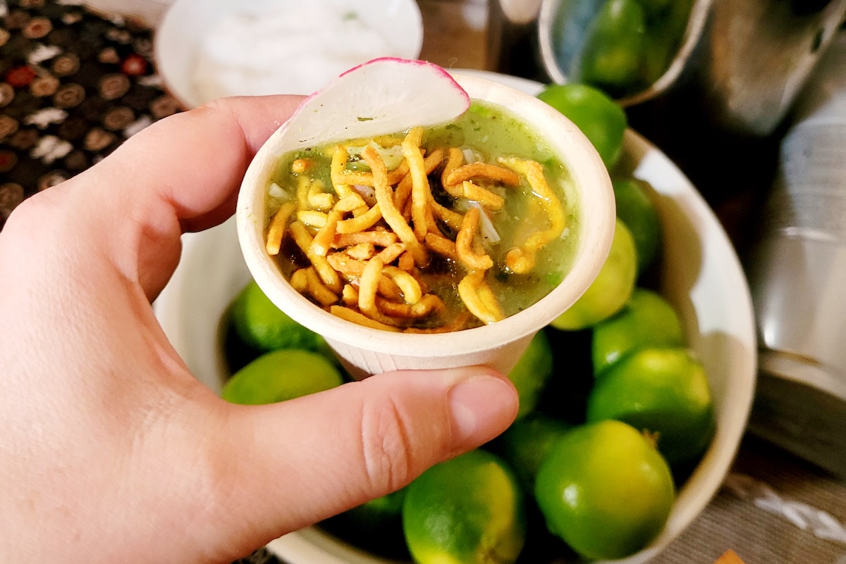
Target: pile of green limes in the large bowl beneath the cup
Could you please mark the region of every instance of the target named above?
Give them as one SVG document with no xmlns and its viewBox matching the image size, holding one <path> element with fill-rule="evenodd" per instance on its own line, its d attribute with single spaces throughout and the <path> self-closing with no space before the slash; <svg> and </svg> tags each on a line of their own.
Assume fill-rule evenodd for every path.
<svg viewBox="0 0 846 564">
<path fill-rule="evenodd" d="M 501 437 L 322 523 L 380 556 L 418 564 L 630 556 L 662 531 L 678 486 L 711 443 L 706 371 L 677 310 L 655 290 L 662 230 L 651 188 L 613 172 L 625 115 L 580 84 L 549 87 L 541 99 L 583 129 L 612 171 L 611 252 L 508 375 L 520 409 Z M 230 362 L 244 365 L 223 388 L 230 401 L 284 401 L 343 382 L 320 336 L 254 283 L 233 301 L 227 327 Z"/>
</svg>

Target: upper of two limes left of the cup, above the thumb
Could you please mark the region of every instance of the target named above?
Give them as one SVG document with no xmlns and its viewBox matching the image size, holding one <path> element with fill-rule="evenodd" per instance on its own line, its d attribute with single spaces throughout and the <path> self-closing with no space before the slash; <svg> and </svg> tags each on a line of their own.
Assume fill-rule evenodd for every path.
<svg viewBox="0 0 846 564">
<path fill-rule="evenodd" d="M 321 353 L 328 350 L 320 335 L 288 317 L 265 296 L 255 280 L 235 297 L 229 318 L 244 343 L 255 349 L 303 349 Z"/>
</svg>

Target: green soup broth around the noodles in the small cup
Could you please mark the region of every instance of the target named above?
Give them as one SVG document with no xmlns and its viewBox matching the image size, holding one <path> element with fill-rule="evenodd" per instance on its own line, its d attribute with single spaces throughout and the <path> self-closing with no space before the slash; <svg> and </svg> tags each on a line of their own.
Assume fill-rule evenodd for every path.
<svg viewBox="0 0 846 564">
<path fill-rule="evenodd" d="M 402 138 L 405 133 L 407 132 L 397 132 L 382 137 Z M 346 146 L 343 142 L 341 144 Z M 337 145 L 338 142 L 332 142 L 284 155 L 271 182 L 275 182 L 288 193 L 290 198 L 295 199 L 298 181 L 291 172 L 291 164 L 294 160 L 311 159 L 316 162 L 316 166 L 312 166 L 308 171 L 310 178 L 321 182 L 327 192 L 333 193 L 330 165 L 332 149 Z M 420 146 L 426 149 L 426 155 L 435 149 L 446 150 L 450 147 L 458 147 L 464 151 L 465 155 L 469 154 L 466 149 L 470 149 L 475 160 L 492 164 L 498 164 L 499 157 L 518 157 L 541 163 L 549 186 L 555 191 L 563 206 L 566 218 L 563 235 L 549 242 L 537 253 L 536 265 L 529 273 L 514 274 L 505 268 L 506 252 L 513 247 L 519 247 L 532 233 L 546 228 L 549 224 L 543 209 L 536 203 L 531 203 L 532 198 L 537 200 L 537 196 L 533 195 L 525 177 L 521 176 L 519 187 L 506 187 L 500 192 L 505 198 L 503 208 L 496 212 L 488 210 L 488 217 L 500 241 L 492 243 L 485 239 L 483 247 L 494 261 L 494 267 L 487 271 L 486 282 L 491 286 L 506 317 L 521 312 L 547 296 L 569 273 L 579 235 L 579 218 L 576 213 L 577 203 L 574 202 L 575 190 L 572 178 L 563 163 L 547 148 L 547 144 L 503 107 L 474 101 L 470 109 L 454 122 L 445 126 L 427 127 Z M 369 170 L 365 161 L 356 154 L 355 149 L 349 150 L 349 153 L 348 170 Z M 401 160 L 401 153 L 399 157 L 398 160 Z M 389 171 L 398 165 L 398 160 L 393 163 L 389 157 L 385 160 Z M 446 193 L 441 184 L 441 171 L 442 165 L 429 175 L 432 195 L 438 203 L 464 213 L 468 209 L 467 201 L 462 202 L 464 198 L 453 198 Z M 269 197 L 268 199 L 267 208 L 272 213 L 278 208 L 279 203 L 274 201 L 276 198 Z M 384 220 L 381 224 L 387 226 Z M 441 227 L 443 236 L 455 240 L 455 232 L 440 222 L 438 225 Z M 420 274 L 431 286 L 432 291 L 447 305 L 448 312 L 438 316 L 437 320 L 429 317 L 416 320 L 410 325 L 411 327 L 426 328 L 436 324 L 442 325 L 445 320 L 449 323 L 451 318 L 466 309 L 457 290 L 459 281 L 466 274 L 464 266 L 453 263 L 436 252 L 431 252 L 430 256 L 431 263 L 421 268 Z M 291 237 L 286 237 L 283 241 L 283 247 L 277 255 L 277 263 L 288 279 L 294 271 L 310 264 Z M 465 328 L 479 325 L 481 322 L 474 317 Z"/>
</svg>

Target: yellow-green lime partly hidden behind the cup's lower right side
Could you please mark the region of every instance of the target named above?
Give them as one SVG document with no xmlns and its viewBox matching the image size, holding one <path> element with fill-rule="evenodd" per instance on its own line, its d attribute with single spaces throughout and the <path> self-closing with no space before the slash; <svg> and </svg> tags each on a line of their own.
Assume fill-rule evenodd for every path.
<svg viewBox="0 0 846 564">
<path fill-rule="evenodd" d="M 637 274 L 637 251 L 631 231 L 617 220 L 611 252 L 591 286 L 552 323 L 557 329 L 583 329 L 620 311 L 629 301 Z"/>
</svg>

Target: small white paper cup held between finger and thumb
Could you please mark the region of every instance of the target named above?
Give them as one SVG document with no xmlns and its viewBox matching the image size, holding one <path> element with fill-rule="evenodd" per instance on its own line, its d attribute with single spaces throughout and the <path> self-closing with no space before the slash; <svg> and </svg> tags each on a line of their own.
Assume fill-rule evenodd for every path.
<svg viewBox="0 0 846 564">
<path fill-rule="evenodd" d="M 241 184 L 236 220 L 244 260 L 267 297 L 298 323 L 323 335 L 354 377 L 393 370 L 487 365 L 508 373 L 538 330 L 587 290 L 605 262 L 613 237 L 611 180 L 596 149 L 573 122 L 535 97 L 491 80 L 453 75 L 471 99 L 502 106 L 544 139 L 569 171 L 580 233 L 573 266 L 552 292 L 502 321 L 446 334 L 391 333 L 324 311 L 288 283 L 265 250 L 266 190 L 277 169 L 281 131 L 250 164 Z"/>
</svg>

